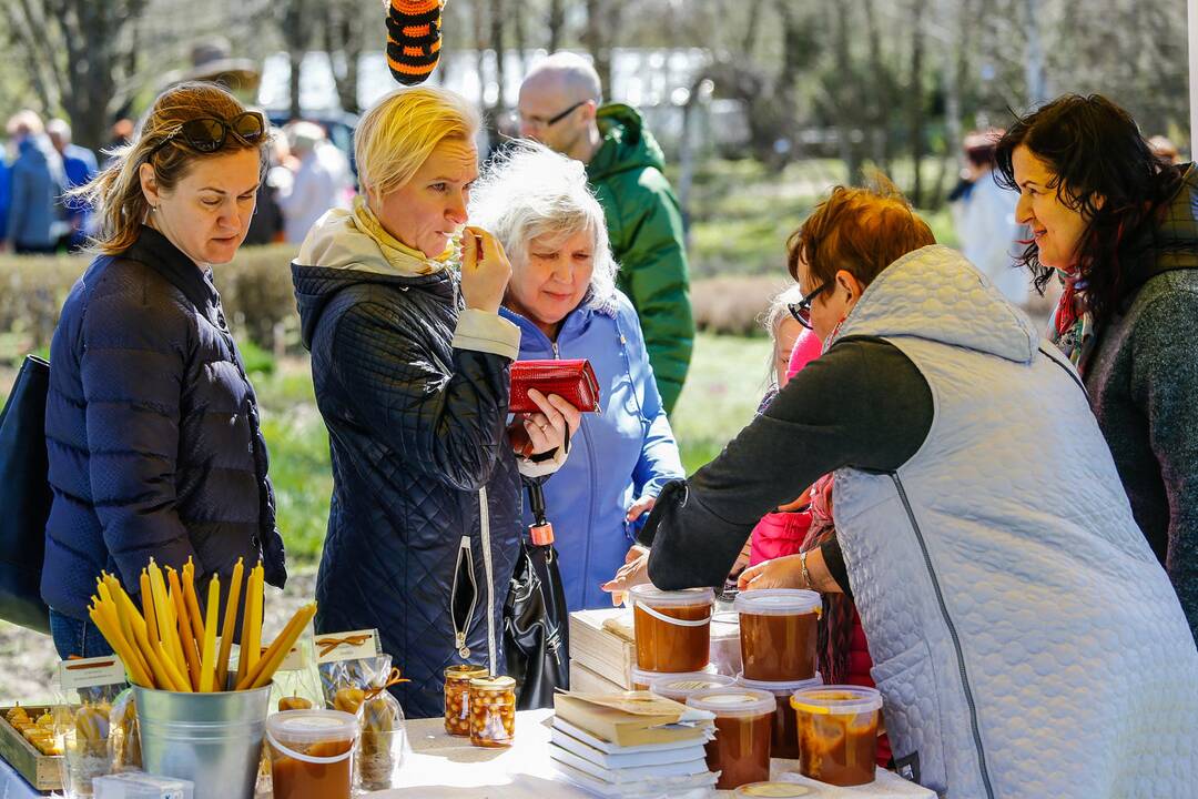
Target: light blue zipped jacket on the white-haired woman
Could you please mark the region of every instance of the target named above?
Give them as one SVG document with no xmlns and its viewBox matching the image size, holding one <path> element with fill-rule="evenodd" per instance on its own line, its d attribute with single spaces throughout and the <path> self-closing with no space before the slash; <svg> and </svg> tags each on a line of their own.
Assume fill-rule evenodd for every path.
<svg viewBox="0 0 1198 799">
<path fill-rule="evenodd" d="M 628 508 L 685 477 L 636 310 L 619 292 L 599 307 L 583 301 L 563 320 L 556 346 L 524 316 L 500 313 L 520 326 L 521 361 L 587 358 L 599 381 L 603 412 L 583 414 L 570 456 L 545 483 L 545 515 L 570 611 L 610 607 L 599 586 L 633 545 Z M 525 523 L 532 523 L 527 503 Z"/>
</svg>

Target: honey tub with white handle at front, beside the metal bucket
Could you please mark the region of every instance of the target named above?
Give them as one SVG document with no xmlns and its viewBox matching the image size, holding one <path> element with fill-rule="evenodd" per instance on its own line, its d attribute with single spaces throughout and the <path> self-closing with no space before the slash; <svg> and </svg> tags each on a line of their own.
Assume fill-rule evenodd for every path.
<svg viewBox="0 0 1198 799">
<path fill-rule="evenodd" d="M 358 720 L 340 710 L 286 710 L 266 720 L 274 799 L 350 799 Z"/>
</svg>

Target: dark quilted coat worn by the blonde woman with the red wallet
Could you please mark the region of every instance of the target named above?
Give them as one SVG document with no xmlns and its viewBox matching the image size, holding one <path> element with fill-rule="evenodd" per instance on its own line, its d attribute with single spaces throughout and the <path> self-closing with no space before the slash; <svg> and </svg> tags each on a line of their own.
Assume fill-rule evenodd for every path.
<svg viewBox="0 0 1198 799">
<path fill-rule="evenodd" d="M 440 716 L 446 666 L 503 662 L 521 529 L 510 361 L 450 346 L 448 271 L 292 265 L 292 280 L 333 461 L 316 629 L 377 628 L 412 680 L 393 689 L 407 716 Z"/>
</svg>

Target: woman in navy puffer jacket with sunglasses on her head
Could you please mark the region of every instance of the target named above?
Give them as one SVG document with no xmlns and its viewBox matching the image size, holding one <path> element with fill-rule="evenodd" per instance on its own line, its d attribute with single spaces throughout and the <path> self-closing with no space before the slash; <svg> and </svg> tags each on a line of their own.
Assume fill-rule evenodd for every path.
<svg viewBox="0 0 1198 799">
<path fill-rule="evenodd" d="M 95 260 L 62 307 L 46 407 L 42 598 L 62 658 L 108 654 L 87 618 L 101 571 L 238 559 L 286 580 L 258 401 L 213 285 L 254 213 L 265 120 L 214 84 L 163 92 L 132 143 L 78 189 Z M 228 585 L 228 582 L 226 582 Z"/>
</svg>

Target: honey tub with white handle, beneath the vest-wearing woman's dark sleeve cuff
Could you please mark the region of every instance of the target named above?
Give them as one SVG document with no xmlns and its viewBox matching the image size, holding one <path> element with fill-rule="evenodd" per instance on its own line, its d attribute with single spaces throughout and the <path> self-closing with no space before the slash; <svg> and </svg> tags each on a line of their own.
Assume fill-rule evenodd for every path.
<svg viewBox="0 0 1198 799">
<path fill-rule="evenodd" d="M 707 666 L 714 591 L 659 591 L 641 585 L 634 586 L 629 597 L 637 668 L 678 673 L 702 671 Z"/>
</svg>

